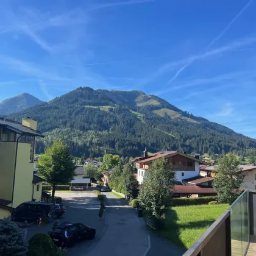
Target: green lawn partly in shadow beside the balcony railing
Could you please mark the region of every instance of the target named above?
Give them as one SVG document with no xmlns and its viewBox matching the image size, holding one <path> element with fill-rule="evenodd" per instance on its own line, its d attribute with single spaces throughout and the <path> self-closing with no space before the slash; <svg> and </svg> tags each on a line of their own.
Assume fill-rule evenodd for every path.
<svg viewBox="0 0 256 256">
<path fill-rule="evenodd" d="M 227 208 L 228 204 L 172 207 L 166 215 L 165 229 L 158 234 L 189 248 Z"/>
</svg>

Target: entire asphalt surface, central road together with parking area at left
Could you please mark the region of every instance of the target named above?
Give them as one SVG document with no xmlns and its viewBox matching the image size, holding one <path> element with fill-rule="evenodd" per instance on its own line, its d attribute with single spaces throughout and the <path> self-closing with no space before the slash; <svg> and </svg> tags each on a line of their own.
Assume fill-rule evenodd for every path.
<svg viewBox="0 0 256 256">
<path fill-rule="evenodd" d="M 94 240 L 68 248 L 68 256 L 181 256 L 185 252 L 185 249 L 148 232 L 143 218 L 138 218 L 137 210 L 130 208 L 126 200 L 112 193 L 103 194 L 107 209 L 103 220 L 99 221 L 99 201 L 93 191 L 56 193 L 66 205 L 66 215 L 59 219 L 59 223 L 76 221 L 96 229 Z M 52 223 L 42 227 L 29 226 L 27 240 L 35 233 L 47 233 L 51 227 Z"/>
</svg>

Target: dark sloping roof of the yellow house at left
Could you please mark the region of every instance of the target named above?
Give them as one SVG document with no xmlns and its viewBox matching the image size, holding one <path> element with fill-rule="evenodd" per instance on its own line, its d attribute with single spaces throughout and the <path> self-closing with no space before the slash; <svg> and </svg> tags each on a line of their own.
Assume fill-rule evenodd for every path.
<svg viewBox="0 0 256 256">
<path fill-rule="evenodd" d="M 34 135 L 44 137 L 38 130 L 32 130 L 29 127 L 23 126 L 21 123 L 0 117 L 0 126 L 4 126 L 9 130 L 13 130 L 21 135 Z"/>
</svg>

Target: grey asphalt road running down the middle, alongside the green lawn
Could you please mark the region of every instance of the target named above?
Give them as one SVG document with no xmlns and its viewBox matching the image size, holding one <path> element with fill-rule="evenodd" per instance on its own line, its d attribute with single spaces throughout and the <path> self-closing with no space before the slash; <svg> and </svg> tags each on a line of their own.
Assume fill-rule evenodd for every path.
<svg viewBox="0 0 256 256">
<path fill-rule="evenodd" d="M 107 205 L 103 236 L 84 255 L 181 256 L 186 251 L 155 233 L 148 232 L 143 218 L 138 218 L 137 210 L 130 208 L 126 200 L 119 199 L 112 193 L 103 194 Z"/>
</svg>

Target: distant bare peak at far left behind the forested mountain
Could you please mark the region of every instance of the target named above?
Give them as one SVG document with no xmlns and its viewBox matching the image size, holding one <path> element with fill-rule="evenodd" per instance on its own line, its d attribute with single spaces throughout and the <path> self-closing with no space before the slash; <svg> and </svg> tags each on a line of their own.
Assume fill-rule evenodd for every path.
<svg viewBox="0 0 256 256">
<path fill-rule="evenodd" d="M 40 104 L 43 101 L 35 98 L 29 93 L 23 93 L 5 101 L 0 102 L 0 115 L 8 115 L 10 113 L 19 112 L 34 105 Z"/>
</svg>

